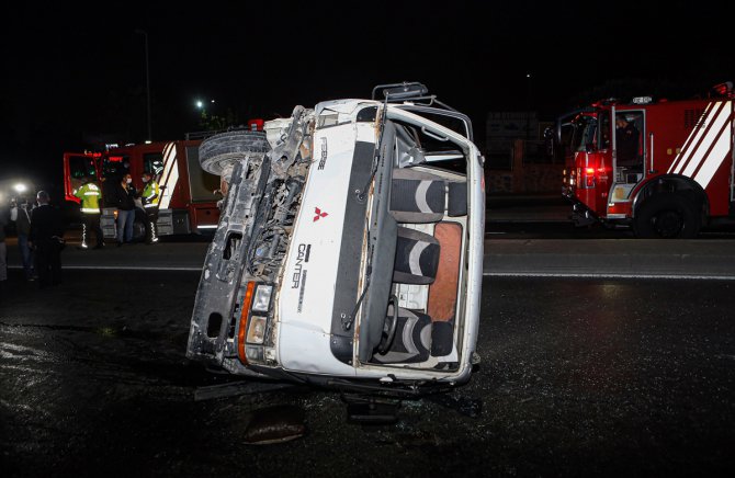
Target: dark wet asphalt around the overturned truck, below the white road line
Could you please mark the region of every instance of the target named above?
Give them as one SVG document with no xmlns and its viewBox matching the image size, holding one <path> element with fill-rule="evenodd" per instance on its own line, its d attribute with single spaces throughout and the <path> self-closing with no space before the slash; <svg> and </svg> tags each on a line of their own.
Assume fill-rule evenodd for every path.
<svg viewBox="0 0 735 478">
<path fill-rule="evenodd" d="M 143 247 L 143 246 L 140 246 Z M 195 400 L 231 378 L 184 357 L 199 274 L 68 271 L 0 304 L 3 476 L 725 476 L 735 471 L 735 284 L 486 278 L 482 364 L 393 425 L 303 388 Z M 662 306 L 666 304 L 666 306 Z M 258 410 L 307 433 L 247 445 Z"/>
</svg>

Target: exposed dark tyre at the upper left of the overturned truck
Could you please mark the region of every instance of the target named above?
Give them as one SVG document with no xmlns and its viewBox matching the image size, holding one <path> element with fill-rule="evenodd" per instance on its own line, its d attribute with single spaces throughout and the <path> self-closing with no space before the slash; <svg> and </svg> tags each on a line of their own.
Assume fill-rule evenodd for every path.
<svg viewBox="0 0 735 478">
<path fill-rule="evenodd" d="M 264 132 L 235 130 L 206 138 L 199 147 L 202 169 L 222 175 L 231 166 L 248 156 L 263 156 L 271 150 Z"/>
</svg>

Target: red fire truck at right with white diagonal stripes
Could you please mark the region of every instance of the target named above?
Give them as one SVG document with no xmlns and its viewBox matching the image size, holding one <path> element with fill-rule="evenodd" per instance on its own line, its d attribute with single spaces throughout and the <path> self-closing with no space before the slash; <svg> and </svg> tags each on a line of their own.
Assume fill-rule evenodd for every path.
<svg viewBox="0 0 735 478">
<path fill-rule="evenodd" d="M 733 84 L 706 96 L 611 99 L 562 116 L 555 141 L 565 146 L 563 194 L 574 221 L 693 238 L 735 219 Z"/>
</svg>

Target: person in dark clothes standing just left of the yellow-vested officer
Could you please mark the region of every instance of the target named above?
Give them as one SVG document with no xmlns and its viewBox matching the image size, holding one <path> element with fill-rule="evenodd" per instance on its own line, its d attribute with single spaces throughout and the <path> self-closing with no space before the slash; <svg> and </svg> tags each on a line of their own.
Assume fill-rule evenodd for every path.
<svg viewBox="0 0 735 478">
<path fill-rule="evenodd" d="M 64 218 L 49 204 L 46 191 L 36 194 L 38 207 L 31 214 L 29 243 L 35 250 L 38 285 L 48 287 L 61 283 L 61 248 L 64 247 Z"/>
</svg>

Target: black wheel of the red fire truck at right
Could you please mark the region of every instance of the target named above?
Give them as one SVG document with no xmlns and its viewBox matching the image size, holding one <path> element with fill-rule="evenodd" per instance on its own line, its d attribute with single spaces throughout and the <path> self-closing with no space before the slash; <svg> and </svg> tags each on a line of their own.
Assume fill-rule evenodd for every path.
<svg viewBox="0 0 735 478">
<path fill-rule="evenodd" d="M 701 226 L 699 209 L 680 194 L 656 194 L 638 208 L 633 221 L 635 235 L 641 238 L 697 237 Z"/>
</svg>

